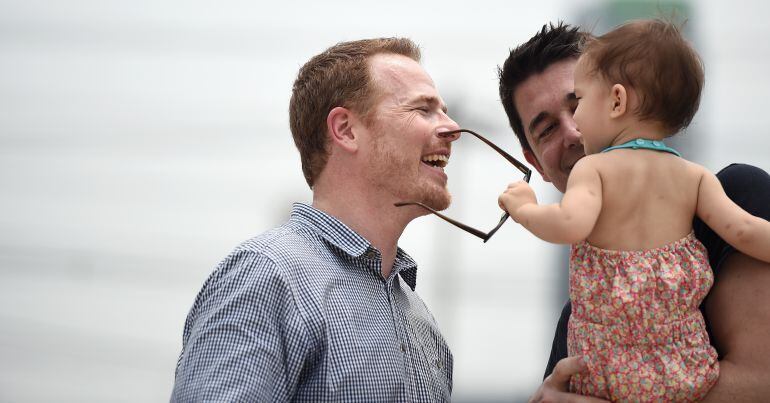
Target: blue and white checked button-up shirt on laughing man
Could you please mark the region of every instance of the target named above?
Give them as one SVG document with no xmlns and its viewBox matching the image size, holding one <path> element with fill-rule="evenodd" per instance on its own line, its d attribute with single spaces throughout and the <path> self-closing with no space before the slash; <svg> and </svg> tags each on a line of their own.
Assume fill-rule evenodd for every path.
<svg viewBox="0 0 770 403">
<path fill-rule="evenodd" d="M 342 222 L 295 204 L 238 246 L 187 316 L 171 400 L 437 402 L 452 354 L 399 249 L 391 275 Z"/>
</svg>

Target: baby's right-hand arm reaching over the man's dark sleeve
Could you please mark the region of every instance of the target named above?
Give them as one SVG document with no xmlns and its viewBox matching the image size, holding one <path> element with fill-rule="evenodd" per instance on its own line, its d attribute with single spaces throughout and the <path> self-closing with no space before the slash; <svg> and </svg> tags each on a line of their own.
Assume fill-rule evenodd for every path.
<svg viewBox="0 0 770 403">
<path fill-rule="evenodd" d="M 770 222 L 735 204 L 727 197 L 717 177 L 705 168 L 702 170 L 698 217 L 735 249 L 770 262 Z"/>
</svg>

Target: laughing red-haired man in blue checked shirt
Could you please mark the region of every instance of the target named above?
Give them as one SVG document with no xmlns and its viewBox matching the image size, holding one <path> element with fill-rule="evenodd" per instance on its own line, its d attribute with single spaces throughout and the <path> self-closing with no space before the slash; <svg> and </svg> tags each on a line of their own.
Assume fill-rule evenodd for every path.
<svg viewBox="0 0 770 403">
<path fill-rule="evenodd" d="M 449 205 L 458 129 L 408 39 L 299 71 L 290 125 L 312 205 L 238 246 L 198 294 L 172 401 L 448 401 L 452 354 L 415 293 L 406 225 Z"/>
</svg>

